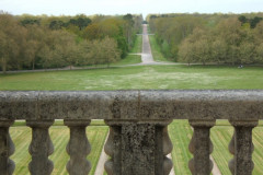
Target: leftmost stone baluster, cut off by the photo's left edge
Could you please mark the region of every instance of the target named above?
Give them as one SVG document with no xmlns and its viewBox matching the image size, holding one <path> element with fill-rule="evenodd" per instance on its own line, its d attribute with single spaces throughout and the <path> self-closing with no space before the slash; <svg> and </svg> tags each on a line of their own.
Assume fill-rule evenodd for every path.
<svg viewBox="0 0 263 175">
<path fill-rule="evenodd" d="M 9 159 L 14 153 L 14 144 L 9 135 L 13 120 L 0 120 L 0 174 L 13 174 L 15 164 Z"/>
</svg>

